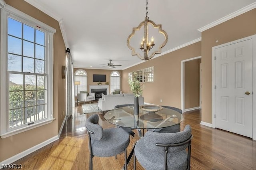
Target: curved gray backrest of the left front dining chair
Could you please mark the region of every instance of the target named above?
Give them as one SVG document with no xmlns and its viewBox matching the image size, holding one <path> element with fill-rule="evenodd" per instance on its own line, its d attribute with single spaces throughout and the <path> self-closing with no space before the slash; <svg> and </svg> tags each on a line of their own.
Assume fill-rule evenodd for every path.
<svg viewBox="0 0 256 170">
<path fill-rule="evenodd" d="M 91 115 L 86 120 L 86 129 L 90 133 L 90 138 L 100 140 L 103 137 L 103 128 L 98 125 L 99 116 L 97 114 Z"/>
</svg>

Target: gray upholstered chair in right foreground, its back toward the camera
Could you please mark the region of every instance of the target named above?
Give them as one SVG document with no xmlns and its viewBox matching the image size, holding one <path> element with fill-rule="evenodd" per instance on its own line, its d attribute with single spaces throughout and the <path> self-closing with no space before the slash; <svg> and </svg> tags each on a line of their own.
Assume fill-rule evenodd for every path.
<svg viewBox="0 0 256 170">
<path fill-rule="evenodd" d="M 190 170 L 192 137 L 190 125 L 177 133 L 146 132 L 135 145 L 134 170 L 136 158 L 146 170 Z"/>
</svg>

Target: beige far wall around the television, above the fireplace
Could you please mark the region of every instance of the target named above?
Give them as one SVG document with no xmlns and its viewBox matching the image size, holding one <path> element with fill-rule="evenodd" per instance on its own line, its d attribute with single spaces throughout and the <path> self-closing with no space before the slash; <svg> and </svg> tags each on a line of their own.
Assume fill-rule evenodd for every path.
<svg viewBox="0 0 256 170">
<path fill-rule="evenodd" d="M 82 69 L 82 68 L 74 68 L 74 73 L 76 70 L 78 69 Z M 118 73 L 120 73 L 120 78 L 122 80 L 122 70 L 104 70 L 104 69 L 82 69 L 84 71 L 86 71 L 87 73 L 87 89 L 89 91 L 89 85 L 97 85 L 98 82 L 92 82 L 92 75 L 93 74 L 106 74 L 106 82 L 109 83 L 110 85 L 110 74 L 113 72 L 113 71 L 117 71 Z M 106 82 L 102 82 L 102 84 L 105 84 Z M 120 86 L 122 88 L 122 81 L 120 81 Z M 78 92 L 79 93 L 79 92 Z M 108 93 L 111 93 L 110 92 L 110 86 L 109 86 L 109 92 Z"/>
</svg>

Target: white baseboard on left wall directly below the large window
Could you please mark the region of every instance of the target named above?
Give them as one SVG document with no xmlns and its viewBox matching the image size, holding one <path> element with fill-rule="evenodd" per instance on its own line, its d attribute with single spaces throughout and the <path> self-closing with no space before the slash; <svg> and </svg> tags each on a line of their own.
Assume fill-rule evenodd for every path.
<svg viewBox="0 0 256 170">
<path fill-rule="evenodd" d="M 33 146 L 32 148 L 29 148 L 29 149 L 27 149 L 27 150 L 25 150 L 23 152 L 20 152 L 20 153 L 14 155 L 14 156 L 12 156 L 12 157 L 2 161 L 2 162 L 0 162 L 0 165 L 12 164 L 13 162 L 15 162 L 15 161 L 17 161 L 17 160 L 27 156 L 28 154 L 31 154 L 32 152 L 35 152 L 36 150 L 38 150 L 38 149 L 40 149 L 40 148 L 42 148 L 42 147 L 44 147 L 44 146 L 46 146 L 46 145 L 56 141 L 58 139 L 59 139 L 59 137 L 58 137 L 58 135 L 56 135 L 56 136 L 54 136 L 54 137 L 52 137 L 52 138 L 50 138 L 50 139 L 48 139 L 48 140 L 46 140 L 46 141 L 36 145 L 36 146 Z"/>
</svg>

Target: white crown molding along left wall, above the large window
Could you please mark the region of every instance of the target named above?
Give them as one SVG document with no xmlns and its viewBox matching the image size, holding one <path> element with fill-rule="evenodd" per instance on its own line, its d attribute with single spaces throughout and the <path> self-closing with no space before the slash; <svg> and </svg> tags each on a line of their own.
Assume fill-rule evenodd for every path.
<svg viewBox="0 0 256 170">
<path fill-rule="evenodd" d="M 30 5 L 36 7 L 38 10 L 44 12 L 45 14 L 47 14 L 48 16 L 54 18 L 55 20 L 57 20 L 59 22 L 62 38 L 64 40 L 66 48 L 68 48 L 69 44 L 68 44 L 68 40 L 67 40 L 67 36 L 66 36 L 66 31 L 63 26 L 62 18 L 59 15 L 54 14 L 51 10 L 49 10 L 47 7 L 45 7 L 44 5 L 42 5 L 41 3 L 39 3 L 36 0 L 24 0 L 24 1 L 28 2 Z"/>
</svg>

